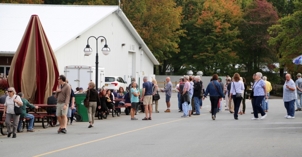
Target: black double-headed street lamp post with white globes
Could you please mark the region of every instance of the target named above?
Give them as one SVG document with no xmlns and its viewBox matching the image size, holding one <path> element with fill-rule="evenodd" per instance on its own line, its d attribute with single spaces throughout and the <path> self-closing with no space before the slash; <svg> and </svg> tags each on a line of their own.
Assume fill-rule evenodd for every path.
<svg viewBox="0 0 302 157">
<path fill-rule="evenodd" d="M 95 56 L 95 89 L 98 90 L 98 38 L 102 37 L 105 39 L 105 45 L 102 49 L 102 52 L 104 55 L 108 55 L 109 52 L 110 52 L 110 49 L 107 45 L 107 40 L 104 36 L 99 36 L 98 38 L 96 38 L 95 36 L 90 36 L 89 38 L 91 37 L 94 37 L 96 39 L 96 56 Z M 86 48 L 84 49 L 84 53 L 85 55 L 89 56 L 92 54 L 92 49 L 90 48 L 90 45 L 88 44 L 88 40 L 89 38 L 87 39 L 87 46 Z M 103 39 L 101 39 L 103 40 Z"/>
</svg>

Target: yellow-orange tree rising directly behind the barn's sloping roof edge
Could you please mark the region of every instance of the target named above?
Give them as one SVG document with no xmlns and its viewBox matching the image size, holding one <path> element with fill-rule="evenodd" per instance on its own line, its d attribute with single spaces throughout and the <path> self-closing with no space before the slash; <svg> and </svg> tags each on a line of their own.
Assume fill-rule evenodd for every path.
<svg viewBox="0 0 302 157">
<path fill-rule="evenodd" d="M 173 0 L 125 0 L 123 11 L 159 61 L 159 74 L 165 74 L 169 60 L 180 50 L 182 8 Z"/>
</svg>

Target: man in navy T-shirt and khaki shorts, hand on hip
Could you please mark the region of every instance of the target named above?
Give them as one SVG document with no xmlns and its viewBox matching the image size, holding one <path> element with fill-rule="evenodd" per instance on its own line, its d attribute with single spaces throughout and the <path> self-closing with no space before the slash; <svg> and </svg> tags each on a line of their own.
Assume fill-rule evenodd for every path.
<svg viewBox="0 0 302 157">
<path fill-rule="evenodd" d="M 152 120 L 151 115 L 152 115 L 152 96 L 155 94 L 152 91 L 152 88 L 155 87 L 154 91 L 157 91 L 158 86 L 150 81 L 148 81 L 148 77 L 143 78 L 143 94 L 142 97 L 140 98 L 141 101 L 143 101 L 143 104 L 145 106 L 145 114 L 146 117 L 143 118 L 143 120 Z M 149 118 L 148 118 L 148 110 L 149 110 Z"/>
</svg>

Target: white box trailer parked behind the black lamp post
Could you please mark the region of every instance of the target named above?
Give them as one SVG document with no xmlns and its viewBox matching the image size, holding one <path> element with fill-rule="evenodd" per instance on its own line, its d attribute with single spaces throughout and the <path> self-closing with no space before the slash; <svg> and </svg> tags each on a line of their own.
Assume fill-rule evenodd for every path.
<svg viewBox="0 0 302 157">
<path fill-rule="evenodd" d="M 72 89 L 76 87 L 88 88 L 90 81 L 95 82 L 95 66 L 70 65 L 64 67 L 64 75 L 69 81 Z M 98 67 L 98 88 L 103 87 L 105 82 L 105 68 Z M 95 82 L 96 83 L 96 82 Z"/>
</svg>

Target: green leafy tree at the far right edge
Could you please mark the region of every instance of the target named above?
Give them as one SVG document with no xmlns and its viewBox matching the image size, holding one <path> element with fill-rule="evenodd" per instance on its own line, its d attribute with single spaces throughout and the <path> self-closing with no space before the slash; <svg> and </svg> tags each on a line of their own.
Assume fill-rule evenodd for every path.
<svg viewBox="0 0 302 157">
<path fill-rule="evenodd" d="M 287 67 L 288 72 L 301 71 L 301 66 L 293 64 L 292 59 L 302 54 L 302 2 L 294 2 L 293 14 L 278 20 L 278 24 L 269 28 L 271 38 L 268 43 L 278 48 L 280 68 Z M 281 74 L 281 71 L 280 71 Z"/>
</svg>

